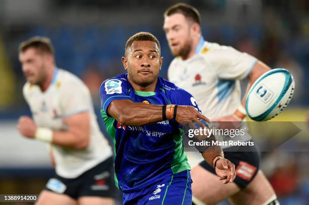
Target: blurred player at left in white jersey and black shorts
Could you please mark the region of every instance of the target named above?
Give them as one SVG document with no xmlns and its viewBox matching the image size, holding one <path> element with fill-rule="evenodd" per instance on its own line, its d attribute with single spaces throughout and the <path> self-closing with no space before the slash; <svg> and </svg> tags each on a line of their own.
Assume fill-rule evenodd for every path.
<svg viewBox="0 0 309 205">
<path fill-rule="evenodd" d="M 22 42 L 19 60 L 33 119 L 21 116 L 18 130 L 49 144 L 56 168 L 37 204 L 113 204 L 112 149 L 99 130 L 88 88 L 56 67 L 48 38 Z"/>
</svg>

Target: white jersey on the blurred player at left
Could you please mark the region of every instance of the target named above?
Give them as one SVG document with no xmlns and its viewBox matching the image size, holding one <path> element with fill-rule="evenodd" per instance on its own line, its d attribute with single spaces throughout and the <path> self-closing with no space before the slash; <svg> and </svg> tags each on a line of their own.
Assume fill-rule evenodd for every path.
<svg viewBox="0 0 309 205">
<path fill-rule="evenodd" d="M 90 92 L 78 77 L 56 69 L 52 83 L 45 92 L 27 82 L 23 94 L 35 123 L 40 127 L 66 130 L 66 117 L 86 111 L 90 113 L 90 142 L 85 150 L 50 145 L 59 176 L 76 178 L 112 156 L 112 149 L 97 124 Z"/>
</svg>

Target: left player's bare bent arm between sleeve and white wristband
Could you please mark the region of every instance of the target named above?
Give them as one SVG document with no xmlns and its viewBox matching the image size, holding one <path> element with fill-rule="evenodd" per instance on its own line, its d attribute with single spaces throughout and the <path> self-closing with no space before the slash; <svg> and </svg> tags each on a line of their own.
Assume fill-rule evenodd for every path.
<svg viewBox="0 0 309 205">
<path fill-rule="evenodd" d="M 69 116 L 65 119 L 65 123 L 68 130 L 54 131 L 52 143 L 62 147 L 86 149 L 90 139 L 89 112 Z"/>
</svg>

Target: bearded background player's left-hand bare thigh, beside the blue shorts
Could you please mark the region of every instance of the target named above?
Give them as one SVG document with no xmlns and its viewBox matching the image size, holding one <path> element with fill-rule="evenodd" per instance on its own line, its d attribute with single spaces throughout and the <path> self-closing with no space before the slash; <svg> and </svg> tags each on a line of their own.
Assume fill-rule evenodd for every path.
<svg viewBox="0 0 309 205">
<path fill-rule="evenodd" d="M 216 204 L 240 190 L 235 183 L 223 184 L 218 176 L 200 165 L 193 167 L 191 177 L 195 204 Z"/>
</svg>

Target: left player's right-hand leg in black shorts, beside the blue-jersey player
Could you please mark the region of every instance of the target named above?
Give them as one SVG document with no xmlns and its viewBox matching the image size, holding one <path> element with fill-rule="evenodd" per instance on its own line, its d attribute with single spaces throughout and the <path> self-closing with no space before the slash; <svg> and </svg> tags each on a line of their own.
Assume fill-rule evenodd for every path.
<svg viewBox="0 0 309 205">
<path fill-rule="evenodd" d="M 89 169 L 81 176 L 78 204 L 113 204 L 117 188 L 114 180 L 113 158 Z"/>
</svg>

